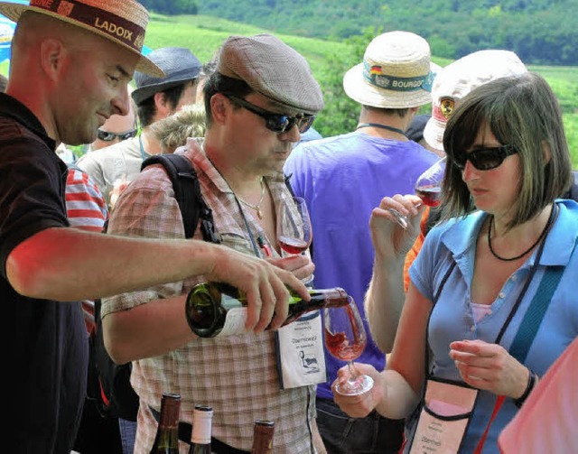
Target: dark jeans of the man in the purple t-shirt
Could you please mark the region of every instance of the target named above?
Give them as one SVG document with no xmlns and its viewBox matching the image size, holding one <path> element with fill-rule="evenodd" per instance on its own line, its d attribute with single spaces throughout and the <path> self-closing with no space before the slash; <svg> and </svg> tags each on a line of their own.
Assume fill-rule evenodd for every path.
<svg viewBox="0 0 578 454">
<path fill-rule="evenodd" d="M 404 420 L 372 412 L 351 418 L 337 403 L 317 398 L 317 426 L 328 454 L 396 454 L 403 442 Z"/>
</svg>

